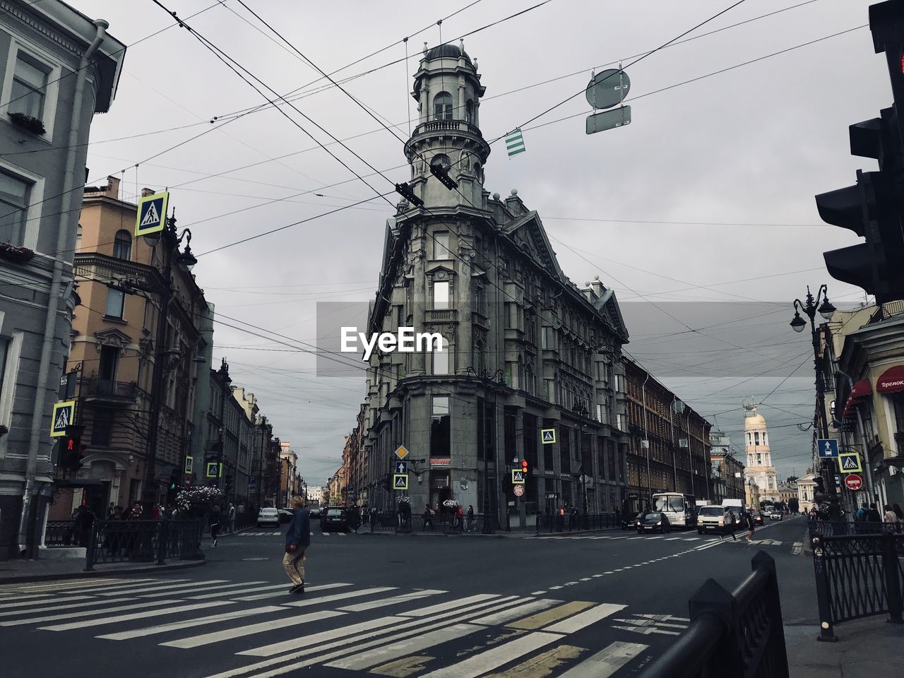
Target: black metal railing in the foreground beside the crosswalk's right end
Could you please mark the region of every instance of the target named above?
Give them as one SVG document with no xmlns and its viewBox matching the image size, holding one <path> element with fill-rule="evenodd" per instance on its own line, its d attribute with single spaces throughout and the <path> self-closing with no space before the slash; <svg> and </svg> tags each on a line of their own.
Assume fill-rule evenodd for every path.
<svg viewBox="0 0 904 678">
<path fill-rule="evenodd" d="M 730 593 L 707 579 L 689 601 L 691 624 L 641 678 L 788 678 L 775 560 L 759 551 Z"/>
</svg>

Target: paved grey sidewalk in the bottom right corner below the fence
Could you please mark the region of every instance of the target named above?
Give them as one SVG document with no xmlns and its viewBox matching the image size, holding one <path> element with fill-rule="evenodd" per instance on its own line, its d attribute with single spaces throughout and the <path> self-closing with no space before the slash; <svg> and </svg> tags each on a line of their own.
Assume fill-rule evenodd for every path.
<svg viewBox="0 0 904 678">
<path fill-rule="evenodd" d="M 886 623 L 886 615 L 835 626 L 837 643 L 816 640 L 815 624 L 785 626 L 791 678 L 899 678 L 904 625 Z"/>
</svg>

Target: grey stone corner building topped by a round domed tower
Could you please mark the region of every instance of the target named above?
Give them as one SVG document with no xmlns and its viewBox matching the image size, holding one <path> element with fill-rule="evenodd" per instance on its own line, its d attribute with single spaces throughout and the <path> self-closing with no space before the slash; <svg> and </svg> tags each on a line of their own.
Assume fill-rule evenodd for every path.
<svg viewBox="0 0 904 678">
<path fill-rule="evenodd" d="M 407 495 L 419 514 L 451 499 L 502 525 L 562 504 L 620 511 L 626 326 L 611 289 L 565 276 L 516 190 L 485 191 L 484 91 L 464 45 L 425 49 L 411 92 L 419 124 L 405 145 L 423 205 L 402 200 L 386 224 L 367 332 L 438 333 L 442 351 L 372 353 L 357 500 L 391 510 Z M 543 428 L 555 429 L 554 444 L 541 443 Z M 390 489 L 400 445 L 407 491 Z M 518 496 L 511 470 L 523 460 Z"/>
</svg>

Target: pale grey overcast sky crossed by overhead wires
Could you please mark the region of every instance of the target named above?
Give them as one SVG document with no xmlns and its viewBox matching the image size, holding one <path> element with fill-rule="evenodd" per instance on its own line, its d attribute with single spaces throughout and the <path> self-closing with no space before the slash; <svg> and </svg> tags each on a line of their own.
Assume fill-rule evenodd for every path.
<svg viewBox="0 0 904 678">
<path fill-rule="evenodd" d="M 398 126 L 400 137 L 408 135 L 409 112 L 416 115 L 403 37 L 412 36 L 410 75 L 423 42 L 440 42 L 440 17 L 471 5 L 442 23 L 443 42 L 457 43 L 538 1 L 245 0 L 325 71 L 389 47 L 336 77 L 379 69 L 344 87 Z M 196 254 L 374 195 L 317 148 L 299 126 L 321 141 L 328 137 L 295 110 L 284 108 L 297 125 L 274 108 L 230 118 L 265 100 L 188 31 L 173 27 L 138 42 L 173 24 L 152 0 L 71 4 L 107 19 L 110 33 L 134 45 L 113 107 L 91 127 L 90 179 L 121 176 L 127 199 L 144 186 L 169 187 L 179 227 L 192 228 Z M 874 161 L 849 155 L 848 141 L 850 124 L 891 103 L 883 57 L 873 52 L 869 29 L 856 28 L 867 24 L 870 3 L 748 0 L 686 36 L 702 37 L 627 68 L 631 125 L 587 136 L 582 94 L 524 125 L 578 94 L 594 67 L 619 59 L 627 66 L 730 4 L 551 0 L 466 37 L 465 46 L 486 87 L 484 136 L 523 126 L 527 148 L 509 159 L 494 144 L 486 189 L 506 195 L 516 187 L 540 212 L 572 280 L 599 276 L 621 301 L 648 306 L 646 326 L 628 326 L 626 349 L 736 443 L 742 398 L 765 400 L 760 412 L 784 478 L 805 470 L 811 432 L 796 423 L 813 412 L 809 336 L 788 327 L 791 302 L 807 285 L 824 282 L 833 300 L 862 300 L 862 292 L 824 270 L 822 252 L 856 237 L 820 225 L 813 196 L 852 184 L 857 168 L 874 168 Z M 188 24 L 262 80 L 266 87 L 259 89 L 285 94 L 323 84 L 238 0 L 163 5 L 183 18 L 208 8 Z M 756 18 L 770 13 L 777 14 Z M 813 41 L 820 42 L 768 56 Z M 381 193 L 408 178 L 400 141 L 341 91 L 309 93 L 295 105 L 334 137 L 353 137 L 347 145 L 387 177 L 368 178 Z M 569 116 L 575 117 L 557 122 Z M 330 148 L 355 172 L 372 173 L 341 147 Z M 258 325 L 263 331 L 253 331 L 265 336 L 313 342 L 316 300 L 372 296 L 391 214 L 389 204 L 374 199 L 202 256 L 194 272 L 224 322 L 236 325 L 230 316 Z M 706 300 L 730 304 L 673 303 Z M 774 306 L 771 315 L 758 316 L 763 306 L 750 301 L 787 310 Z M 718 312 L 710 317 L 706 309 Z M 764 318 L 772 323 L 767 332 L 759 326 Z M 733 322 L 711 327 L 726 320 Z M 691 329 L 710 335 L 711 344 L 688 343 Z M 229 360 L 235 383 L 258 396 L 275 434 L 292 443 L 308 483 L 322 483 L 339 464 L 363 381 L 316 378 L 310 356 L 224 325 L 216 326 L 214 342 L 215 365 L 221 356 Z M 722 374 L 705 360 L 715 351 Z"/>
</svg>

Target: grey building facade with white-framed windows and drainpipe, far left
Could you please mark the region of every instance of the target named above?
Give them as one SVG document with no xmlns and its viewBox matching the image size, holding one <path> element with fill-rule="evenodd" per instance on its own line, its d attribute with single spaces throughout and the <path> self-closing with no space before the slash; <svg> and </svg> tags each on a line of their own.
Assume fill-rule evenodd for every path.
<svg viewBox="0 0 904 678">
<path fill-rule="evenodd" d="M 0 560 L 33 555 L 54 490 L 89 127 L 126 51 L 107 28 L 56 0 L 6 0 L 0 13 Z"/>
</svg>

